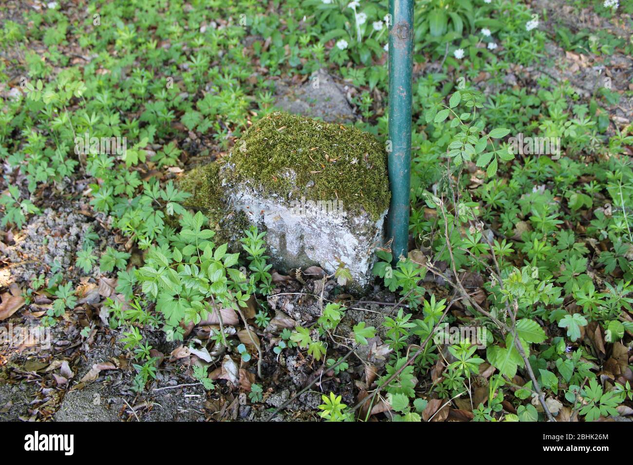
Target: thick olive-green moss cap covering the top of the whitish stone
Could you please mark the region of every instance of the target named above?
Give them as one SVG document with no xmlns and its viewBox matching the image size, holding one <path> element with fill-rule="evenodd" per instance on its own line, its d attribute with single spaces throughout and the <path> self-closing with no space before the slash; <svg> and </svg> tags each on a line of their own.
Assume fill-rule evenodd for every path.
<svg viewBox="0 0 633 465">
<path fill-rule="evenodd" d="M 369 133 L 271 113 L 237 141 L 222 178 L 287 201 L 339 200 L 351 213 L 364 209 L 377 220 L 389 206 L 386 161 L 384 146 Z"/>
</svg>

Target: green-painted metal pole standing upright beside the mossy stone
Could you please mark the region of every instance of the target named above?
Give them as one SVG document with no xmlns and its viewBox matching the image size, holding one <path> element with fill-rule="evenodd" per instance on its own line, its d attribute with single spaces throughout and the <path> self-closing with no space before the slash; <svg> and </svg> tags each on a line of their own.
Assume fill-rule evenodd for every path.
<svg viewBox="0 0 633 465">
<path fill-rule="evenodd" d="M 406 257 L 411 189 L 411 68 L 413 66 L 413 1 L 389 0 L 389 185 L 391 205 L 387 240 L 394 260 Z M 389 147 L 387 147 L 389 149 Z"/>
</svg>

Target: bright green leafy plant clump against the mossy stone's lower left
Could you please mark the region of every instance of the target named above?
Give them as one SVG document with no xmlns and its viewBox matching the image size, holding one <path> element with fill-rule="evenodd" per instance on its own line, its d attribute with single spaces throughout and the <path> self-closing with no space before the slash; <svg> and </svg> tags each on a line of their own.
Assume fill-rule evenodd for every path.
<svg viewBox="0 0 633 465">
<path fill-rule="evenodd" d="M 169 243 L 149 247 L 145 266 L 137 277 L 146 297 L 156 302 L 165 320 L 164 330 L 182 340 L 180 323 L 197 324 L 212 312 L 246 307 L 258 283 L 270 288 L 269 265 L 265 263 L 264 233 L 251 228 L 244 249 L 251 254 L 251 269 L 256 273 L 247 280 L 237 268 L 239 253 L 228 253 L 227 244 L 215 245 L 215 232 L 205 229 L 202 213 L 182 214 L 180 233 Z M 253 263 L 254 262 L 254 263 Z"/>
</svg>

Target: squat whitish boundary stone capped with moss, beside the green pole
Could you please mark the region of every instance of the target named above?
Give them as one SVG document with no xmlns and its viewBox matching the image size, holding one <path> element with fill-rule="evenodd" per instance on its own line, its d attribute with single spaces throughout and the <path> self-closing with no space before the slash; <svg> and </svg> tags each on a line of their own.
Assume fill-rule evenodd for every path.
<svg viewBox="0 0 633 465">
<path fill-rule="evenodd" d="M 354 287 L 372 280 L 389 207 L 384 146 L 357 128 L 271 113 L 237 140 L 223 163 L 189 171 L 186 206 L 210 216 L 219 236 L 235 241 L 248 224 L 266 230 L 271 262 L 281 271 L 342 263 Z"/>
</svg>

